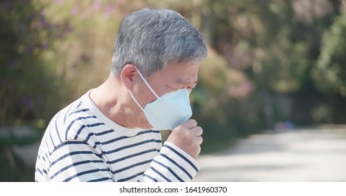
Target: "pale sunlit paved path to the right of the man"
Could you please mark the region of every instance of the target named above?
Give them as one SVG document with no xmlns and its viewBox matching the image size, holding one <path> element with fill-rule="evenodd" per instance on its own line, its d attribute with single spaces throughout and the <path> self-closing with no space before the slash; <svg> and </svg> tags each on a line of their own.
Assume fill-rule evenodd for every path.
<svg viewBox="0 0 346 196">
<path fill-rule="evenodd" d="M 199 163 L 194 181 L 346 182 L 346 129 L 253 135 Z"/>
</svg>

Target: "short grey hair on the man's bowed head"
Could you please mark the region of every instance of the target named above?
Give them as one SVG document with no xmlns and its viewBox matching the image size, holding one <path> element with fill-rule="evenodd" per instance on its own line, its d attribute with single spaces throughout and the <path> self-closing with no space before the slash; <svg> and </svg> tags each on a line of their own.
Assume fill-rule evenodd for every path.
<svg viewBox="0 0 346 196">
<path fill-rule="evenodd" d="M 168 63 L 200 62 L 206 56 L 204 37 L 182 15 L 143 8 L 121 21 L 111 72 L 119 77 L 126 64 L 134 64 L 147 77 Z"/>
</svg>

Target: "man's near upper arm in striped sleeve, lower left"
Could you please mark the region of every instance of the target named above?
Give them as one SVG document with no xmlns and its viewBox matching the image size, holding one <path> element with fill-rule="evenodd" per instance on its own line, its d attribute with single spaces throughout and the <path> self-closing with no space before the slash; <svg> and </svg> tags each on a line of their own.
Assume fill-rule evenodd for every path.
<svg viewBox="0 0 346 196">
<path fill-rule="evenodd" d="M 50 155 L 51 181 L 113 181 L 100 152 L 84 141 L 65 141 Z"/>
</svg>

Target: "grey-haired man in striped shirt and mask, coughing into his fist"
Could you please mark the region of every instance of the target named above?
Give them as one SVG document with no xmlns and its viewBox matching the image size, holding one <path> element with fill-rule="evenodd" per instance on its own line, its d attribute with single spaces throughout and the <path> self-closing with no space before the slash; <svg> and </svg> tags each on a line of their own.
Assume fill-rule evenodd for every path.
<svg viewBox="0 0 346 196">
<path fill-rule="evenodd" d="M 175 11 L 128 15 L 109 78 L 48 125 L 35 181 L 191 181 L 202 129 L 189 119 L 189 93 L 206 54 L 199 30 Z M 159 130 L 172 130 L 163 146 Z"/>
</svg>

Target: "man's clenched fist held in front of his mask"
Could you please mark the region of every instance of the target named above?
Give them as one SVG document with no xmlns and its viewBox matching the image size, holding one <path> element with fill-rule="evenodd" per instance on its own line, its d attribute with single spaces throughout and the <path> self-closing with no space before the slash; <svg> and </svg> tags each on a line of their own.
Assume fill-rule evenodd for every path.
<svg viewBox="0 0 346 196">
<path fill-rule="evenodd" d="M 175 127 L 167 141 L 178 146 L 182 151 L 196 159 L 199 153 L 201 153 L 202 133 L 203 130 L 197 126 L 196 120 L 189 119 Z"/>
</svg>

